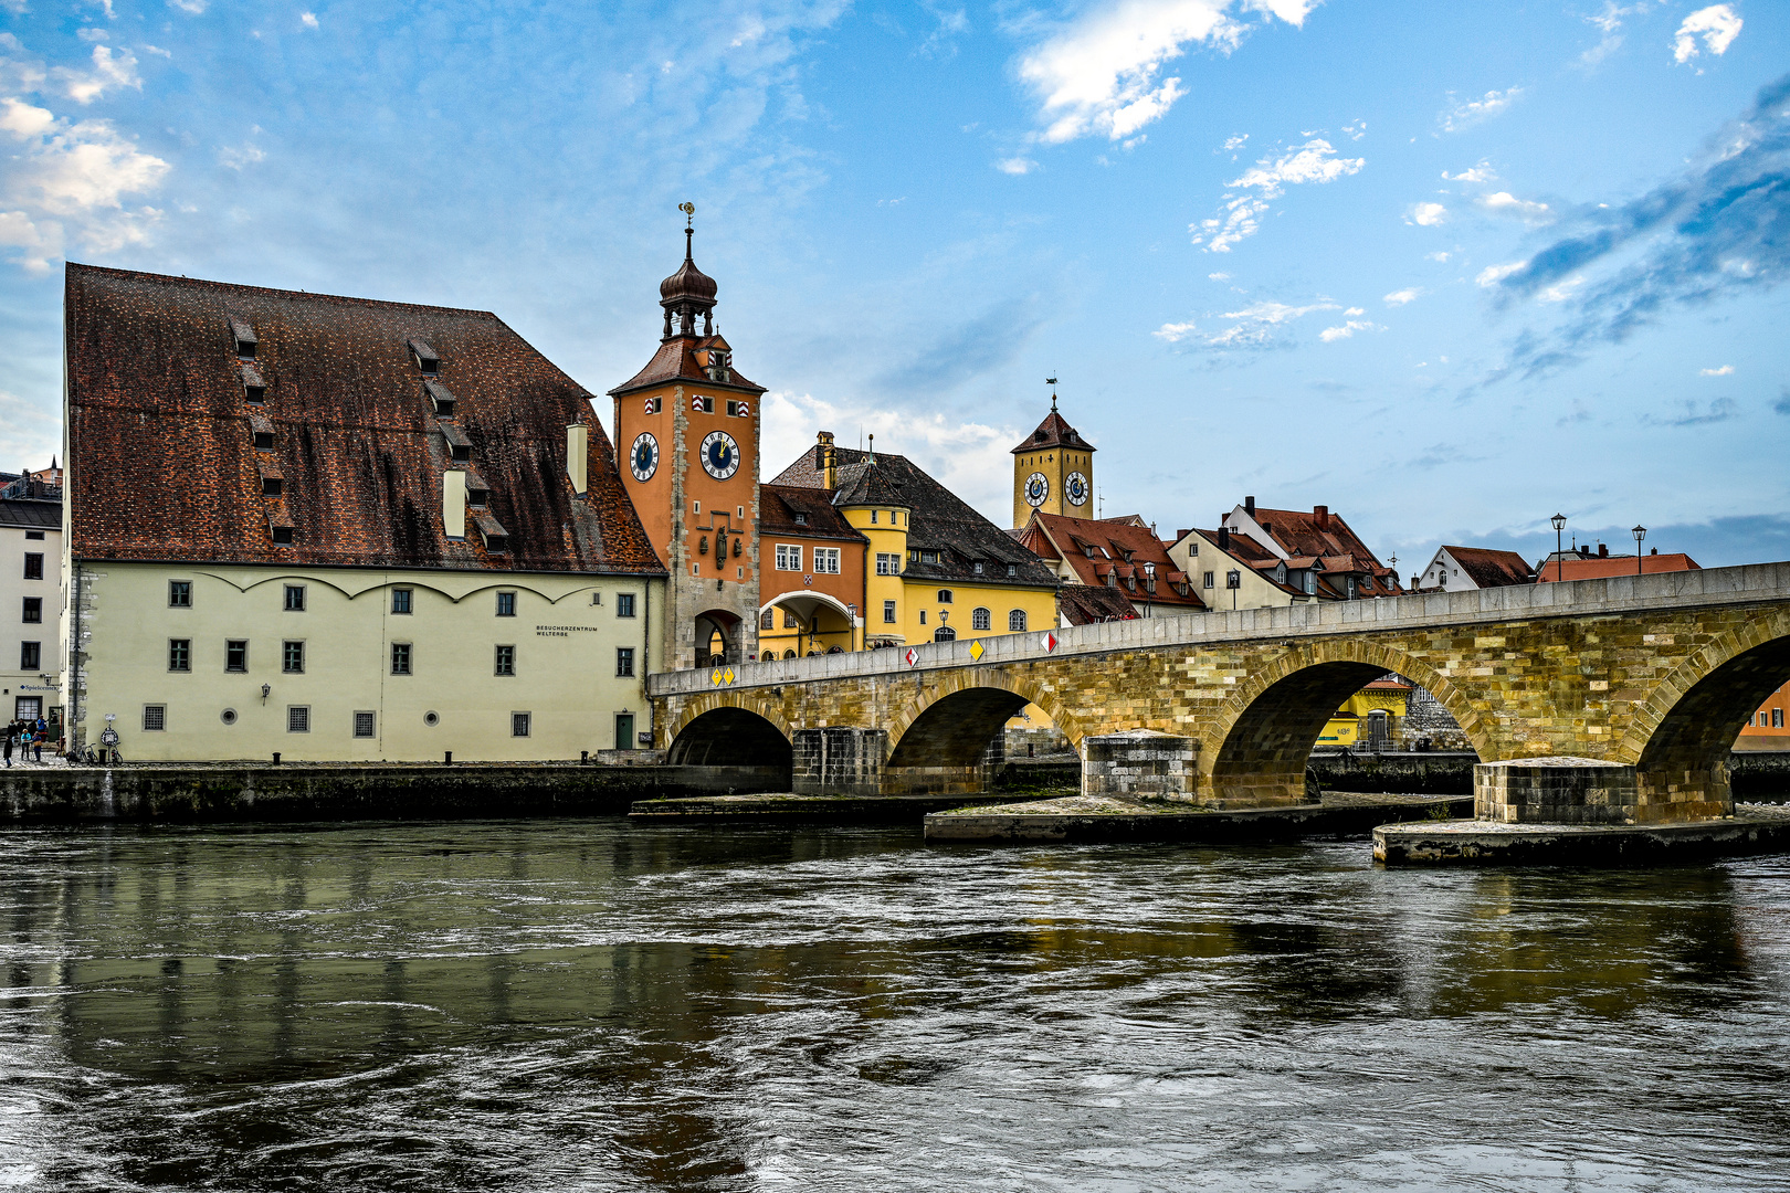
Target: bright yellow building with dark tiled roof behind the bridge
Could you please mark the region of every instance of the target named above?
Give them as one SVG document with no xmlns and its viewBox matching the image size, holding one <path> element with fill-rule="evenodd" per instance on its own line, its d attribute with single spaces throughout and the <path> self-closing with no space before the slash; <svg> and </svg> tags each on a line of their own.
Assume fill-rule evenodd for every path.
<svg viewBox="0 0 1790 1193">
<path fill-rule="evenodd" d="M 829 492 L 866 540 L 856 605 L 868 649 L 1056 626 L 1056 574 L 906 456 L 822 431 L 771 485 Z"/>
</svg>

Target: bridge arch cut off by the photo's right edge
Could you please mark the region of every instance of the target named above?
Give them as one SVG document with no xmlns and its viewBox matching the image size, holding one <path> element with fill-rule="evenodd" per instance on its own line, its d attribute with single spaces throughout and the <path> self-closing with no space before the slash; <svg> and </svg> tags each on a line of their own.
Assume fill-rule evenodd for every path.
<svg viewBox="0 0 1790 1193">
<path fill-rule="evenodd" d="M 1708 776 L 1717 801 L 1727 800 L 1722 767 L 1742 721 L 1786 678 L 1790 610 L 1779 608 L 1718 633 L 1656 683 L 1636 705 L 1616 758 L 1675 785 L 1695 787 Z"/>
</svg>

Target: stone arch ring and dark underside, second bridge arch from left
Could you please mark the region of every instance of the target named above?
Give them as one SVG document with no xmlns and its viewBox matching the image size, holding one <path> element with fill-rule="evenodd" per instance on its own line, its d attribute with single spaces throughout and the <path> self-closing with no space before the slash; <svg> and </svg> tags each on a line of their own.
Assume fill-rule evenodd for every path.
<svg viewBox="0 0 1790 1193">
<path fill-rule="evenodd" d="M 890 723 L 888 766 L 976 766 L 993 735 L 1026 705 L 1044 708 L 1079 748 L 1081 728 L 1054 696 L 1002 667 L 963 667 L 927 676 Z"/>
</svg>

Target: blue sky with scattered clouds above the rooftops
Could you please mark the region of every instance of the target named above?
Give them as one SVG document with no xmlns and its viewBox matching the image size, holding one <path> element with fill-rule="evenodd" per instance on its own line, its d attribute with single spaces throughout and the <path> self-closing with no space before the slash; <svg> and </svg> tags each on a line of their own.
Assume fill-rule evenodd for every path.
<svg viewBox="0 0 1790 1193">
<path fill-rule="evenodd" d="M 0 467 L 63 263 L 496 311 L 601 395 L 682 258 L 770 479 L 875 435 L 997 524 L 1328 504 L 1398 571 L 1790 558 L 1790 5 L 0 0 Z M 598 397 L 605 424 L 612 410 Z"/>
</svg>

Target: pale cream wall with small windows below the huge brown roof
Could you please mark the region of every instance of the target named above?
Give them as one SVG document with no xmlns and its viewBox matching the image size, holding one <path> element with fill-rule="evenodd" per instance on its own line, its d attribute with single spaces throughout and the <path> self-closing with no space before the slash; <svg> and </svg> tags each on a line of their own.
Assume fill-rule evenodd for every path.
<svg viewBox="0 0 1790 1193">
<path fill-rule="evenodd" d="M 104 647 L 64 692 L 125 760 L 578 758 L 652 730 L 657 578 L 81 563 L 79 592 L 73 640 Z"/>
</svg>

